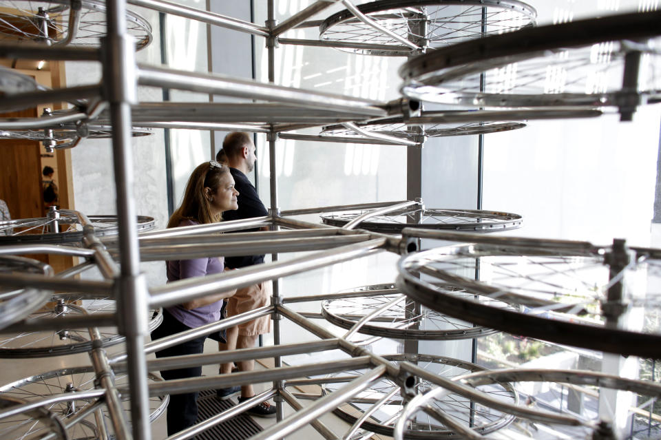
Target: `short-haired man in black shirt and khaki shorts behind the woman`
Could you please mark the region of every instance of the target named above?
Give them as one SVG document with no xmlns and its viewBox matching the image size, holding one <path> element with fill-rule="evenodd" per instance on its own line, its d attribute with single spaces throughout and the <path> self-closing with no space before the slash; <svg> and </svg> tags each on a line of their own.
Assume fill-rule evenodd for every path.
<svg viewBox="0 0 661 440">
<path fill-rule="evenodd" d="M 255 169 L 255 144 L 249 134 L 244 132 L 231 132 L 222 142 L 222 150 L 216 155 L 216 160 L 220 163 L 227 163 L 229 171 L 234 178 L 235 189 L 239 191 L 238 205 L 236 211 L 225 211 L 223 220 L 240 220 L 243 218 L 262 217 L 268 215 L 268 211 L 260 200 L 257 190 L 251 184 L 246 174 Z M 243 257 L 225 258 L 225 266 L 229 269 L 239 269 L 252 264 L 264 262 L 264 255 L 246 255 Z M 227 301 L 227 316 L 234 316 L 240 313 L 254 310 L 255 308 L 268 306 L 271 297 L 271 282 L 263 282 L 238 289 L 236 295 Z M 227 344 L 218 343 L 220 350 L 234 350 L 235 348 L 253 348 L 259 335 L 271 331 L 271 318 L 269 316 L 254 319 L 245 324 L 227 329 Z M 238 362 L 240 371 L 251 371 L 255 366 L 254 361 Z M 232 363 L 221 364 L 220 374 L 231 373 Z M 229 399 L 229 397 L 241 392 L 239 401 L 244 401 L 255 395 L 252 385 L 242 387 L 223 388 L 217 391 L 220 399 Z M 264 402 L 258 406 L 253 406 L 248 410 L 250 415 L 258 417 L 275 417 L 275 406 Z"/>
</svg>

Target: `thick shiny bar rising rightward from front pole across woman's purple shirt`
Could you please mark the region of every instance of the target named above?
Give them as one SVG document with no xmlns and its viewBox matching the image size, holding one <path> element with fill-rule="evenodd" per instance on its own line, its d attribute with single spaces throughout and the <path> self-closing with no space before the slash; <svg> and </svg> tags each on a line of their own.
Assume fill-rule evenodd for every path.
<svg viewBox="0 0 661 440">
<path fill-rule="evenodd" d="M 170 282 L 165 286 L 151 289 L 151 306 L 165 307 L 181 304 L 209 293 L 220 293 L 232 289 L 251 286 L 258 282 L 274 280 L 286 275 L 293 275 L 302 271 L 319 269 L 330 264 L 353 260 L 355 258 L 372 255 L 383 250 L 388 240 L 379 238 L 366 242 L 349 244 L 327 251 L 320 251 L 313 255 L 304 255 L 288 261 L 256 264 L 244 269 L 237 269 L 207 275 L 205 277 L 189 278 Z"/>
</svg>

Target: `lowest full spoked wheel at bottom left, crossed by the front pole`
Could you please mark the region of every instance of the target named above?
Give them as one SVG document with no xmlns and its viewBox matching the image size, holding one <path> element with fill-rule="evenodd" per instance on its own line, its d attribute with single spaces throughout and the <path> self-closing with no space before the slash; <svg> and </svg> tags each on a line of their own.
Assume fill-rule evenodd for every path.
<svg viewBox="0 0 661 440">
<path fill-rule="evenodd" d="M 160 377 L 149 374 L 149 381 L 162 381 Z M 11 397 L 24 399 L 25 401 L 32 401 L 43 397 L 50 397 L 61 395 L 66 392 L 92 390 L 95 387 L 96 373 L 90 366 L 62 368 L 60 370 L 52 370 L 48 373 L 25 377 L 0 387 L 0 393 L 3 397 Z M 128 377 L 125 374 L 115 375 L 116 386 L 127 386 Z M 122 401 L 125 407 L 125 416 L 130 420 L 128 393 L 123 393 Z M 149 421 L 154 421 L 165 412 L 167 408 L 167 401 L 169 396 L 151 397 L 149 399 Z M 48 410 L 54 412 L 62 419 L 70 418 L 78 412 L 87 410 L 90 406 L 96 403 L 96 399 L 71 399 L 70 401 L 60 401 L 52 404 Z M 103 408 L 103 407 L 102 407 Z M 104 417 L 109 417 L 106 410 L 103 410 Z M 31 418 L 26 417 L 25 423 L 29 424 Z M 76 423 L 75 426 L 68 430 L 69 436 L 72 439 L 87 439 L 96 438 L 96 421 L 93 416 L 83 419 L 85 423 Z M 107 426 L 112 426 L 112 423 L 107 421 Z M 43 434 L 43 431 L 40 433 Z M 3 440 L 20 439 L 21 437 L 8 437 L 0 431 L 0 437 Z"/>
</svg>

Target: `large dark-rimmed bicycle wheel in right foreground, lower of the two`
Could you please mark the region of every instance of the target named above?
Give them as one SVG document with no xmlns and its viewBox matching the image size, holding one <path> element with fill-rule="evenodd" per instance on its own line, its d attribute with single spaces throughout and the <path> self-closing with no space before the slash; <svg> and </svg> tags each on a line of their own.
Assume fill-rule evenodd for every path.
<svg viewBox="0 0 661 440">
<path fill-rule="evenodd" d="M 612 247 L 521 239 L 523 245 L 510 237 L 489 240 L 477 234 L 461 234 L 463 238 L 443 235 L 434 232 L 434 238 L 439 240 L 472 244 L 430 249 L 401 258 L 397 286 L 413 300 L 514 335 L 622 355 L 661 357 L 661 334 L 658 324 L 654 324 L 659 315 L 660 293 L 653 287 L 647 293 L 627 291 L 617 302 L 607 296 L 619 277 L 660 277 L 660 251 L 636 251 L 631 265 L 622 271 L 613 269 L 617 275 L 611 279 L 605 263 L 613 254 Z M 477 264 L 480 279 L 476 281 Z M 448 295 L 434 284 L 439 282 L 461 286 L 474 296 Z M 512 308 L 494 306 L 498 302 Z M 644 307 L 649 325 L 638 329 L 605 326 L 607 316 L 627 311 L 627 304 Z"/>
</svg>

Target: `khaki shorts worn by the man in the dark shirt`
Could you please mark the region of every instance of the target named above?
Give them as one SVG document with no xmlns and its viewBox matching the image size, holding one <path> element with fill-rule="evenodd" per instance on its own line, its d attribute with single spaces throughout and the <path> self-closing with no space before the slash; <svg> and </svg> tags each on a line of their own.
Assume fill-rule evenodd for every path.
<svg viewBox="0 0 661 440">
<path fill-rule="evenodd" d="M 273 287 L 270 281 L 244 287 L 227 299 L 227 316 L 235 316 L 271 304 Z M 239 335 L 264 335 L 271 331 L 271 315 L 239 324 Z"/>
</svg>

